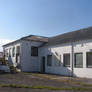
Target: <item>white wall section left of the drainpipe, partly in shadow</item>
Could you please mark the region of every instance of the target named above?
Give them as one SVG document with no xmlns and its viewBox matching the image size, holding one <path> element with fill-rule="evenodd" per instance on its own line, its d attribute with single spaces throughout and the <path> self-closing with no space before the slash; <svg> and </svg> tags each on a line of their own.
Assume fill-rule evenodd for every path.
<svg viewBox="0 0 92 92">
<path fill-rule="evenodd" d="M 54 63 L 54 53 L 61 55 L 61 65 L 55 66 Z M 41 57 L 45 56 L 46 58 L 46 72 L 54 74 L 62 74 L 71 76 L 71 68 L 63 67 L 63 54 L 71 53 L 71 44 L 59 45 L 59 46 L 49 46 L 40 48 L 40 61 Z M 47 66 L 47 55 L 52 54 L 52 66 Z M 41 65 L 41 64 L 40 64 Z"/>
</svg>

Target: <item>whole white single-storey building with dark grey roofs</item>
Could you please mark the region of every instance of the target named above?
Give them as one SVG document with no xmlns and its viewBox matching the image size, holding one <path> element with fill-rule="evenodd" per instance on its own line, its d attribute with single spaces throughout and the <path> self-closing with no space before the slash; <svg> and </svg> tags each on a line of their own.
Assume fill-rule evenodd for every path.
<svg viewBox="0 0 92 92">
<path fill-rule="evenodd" d="M 21 71 L 92 78 L 92 27 L 49 38 L 30 35 L 3 48 Z"/>
</svg>

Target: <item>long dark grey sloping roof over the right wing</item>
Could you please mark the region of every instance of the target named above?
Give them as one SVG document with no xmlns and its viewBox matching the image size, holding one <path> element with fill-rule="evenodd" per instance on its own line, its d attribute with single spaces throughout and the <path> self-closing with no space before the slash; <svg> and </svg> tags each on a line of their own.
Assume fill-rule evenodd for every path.
<svg viewBox="0 0 92 92">
<path fill-rule="evenodd" d="M 85 39 L 92 39 L 92 27 L 50 37 L 47 45 L 56 45 Z"/>
</svg>

